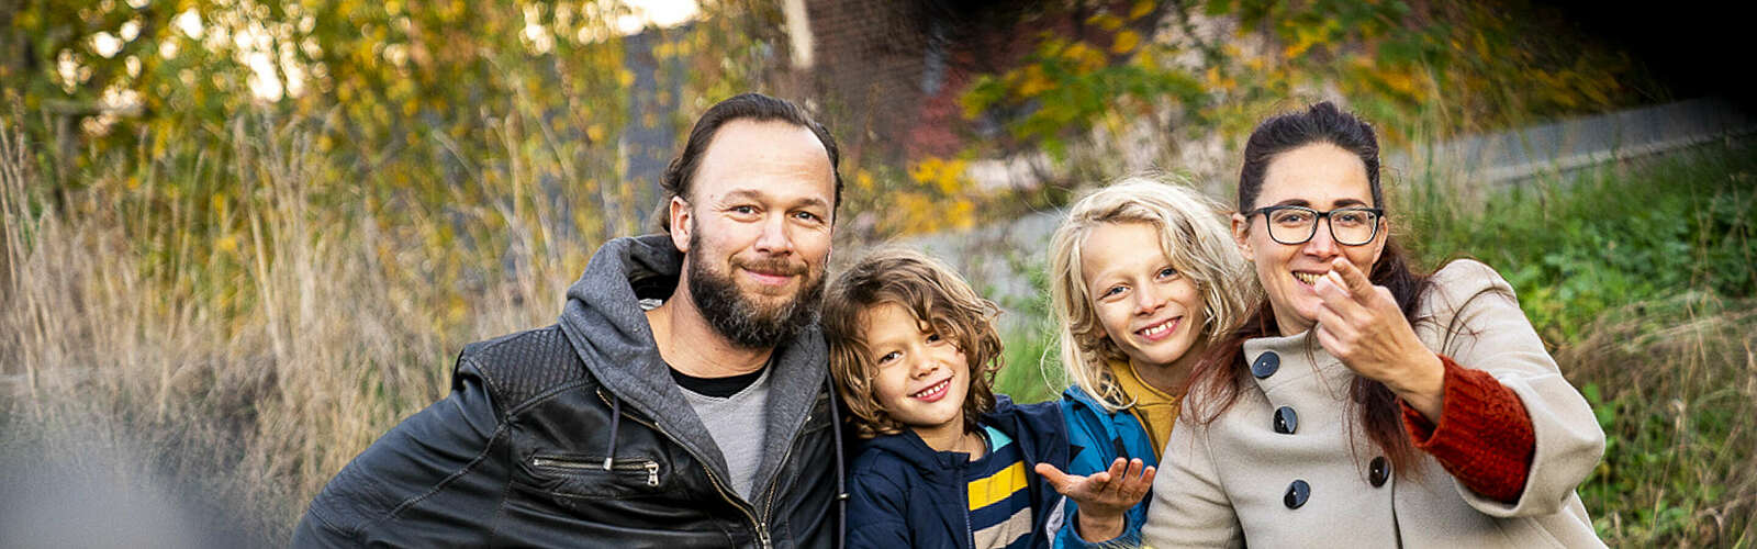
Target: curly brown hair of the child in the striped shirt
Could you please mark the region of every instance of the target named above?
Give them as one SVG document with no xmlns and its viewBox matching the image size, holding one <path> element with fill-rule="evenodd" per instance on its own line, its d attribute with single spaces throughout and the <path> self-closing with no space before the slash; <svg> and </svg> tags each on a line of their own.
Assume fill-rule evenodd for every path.
<svg viewBox="0 0 1757 549">
<path fill-rule="evenodd" d="M 917 322 L 958 345 L 970 368 L 965 392 L 965 431 L 975 431 L 982 414 L 994 410 L 994 373 L 1001 368 L 1000 308 L 977 296 L 958 271 L 908 250 L 880 250 L 861 259 L 829 283 L 824 297 L 824 340 L 829 373 L 852 412 L 861 438 L 898 435 L 903 422 L 884 410 L 873 389 L 878 366 L 866 347 L 866 317 L 880 304 L 908 310 Z"/>
</svg>

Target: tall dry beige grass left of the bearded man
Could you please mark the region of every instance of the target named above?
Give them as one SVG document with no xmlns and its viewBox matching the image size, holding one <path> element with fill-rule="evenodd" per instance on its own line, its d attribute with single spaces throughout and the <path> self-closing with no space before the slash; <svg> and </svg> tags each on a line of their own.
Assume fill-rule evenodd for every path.
<svg viewBox="0 0 1757 549">
<path fill-rule="evenodd" d="M 503 130 L 506 162 L 434 206 L 362 192 L 388 181 L 337 178 L 267 118 L 90 151 L 54 187 L 0 120 L 0 454 L 139 456 L 83 472 L 285 542 L 330 475 L 446 394 L 464 343 L 553 322 L 597 246 L 557 206 L 589 197 L 538 183 L 552 150 Z"/>
</svg>

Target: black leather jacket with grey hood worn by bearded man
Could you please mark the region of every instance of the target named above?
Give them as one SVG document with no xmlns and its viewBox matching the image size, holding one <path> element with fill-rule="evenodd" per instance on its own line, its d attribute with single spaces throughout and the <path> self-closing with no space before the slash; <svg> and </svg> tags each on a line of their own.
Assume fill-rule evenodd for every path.
<svg viewBox="0 0 1757 549">
<path fill-rule="evenodd" d="M 611 241 L 569 289 L 559 324 L 466 347 L 452 394 L 337 473 L 293 545 L 836 544 L 822 336 L 775 350 L 770 436 L 747 500 L 634 303 L 636 289 L 669 294 L 678 262 L 669 239 Z"/>
</svg>

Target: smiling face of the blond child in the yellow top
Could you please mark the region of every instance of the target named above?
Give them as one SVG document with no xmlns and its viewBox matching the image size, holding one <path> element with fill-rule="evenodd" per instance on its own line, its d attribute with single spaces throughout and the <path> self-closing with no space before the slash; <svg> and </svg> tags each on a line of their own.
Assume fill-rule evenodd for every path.
<svg viewBox="0 0 1757 549">
<path fill-rule="evenodd" d="M 1153 223 L 1102 223 L 1081 245 L 1081 278 L 1105 336 L 1137 371 L 1181 368 L 1202 338 L 1204 297 L 1160 248 Z M 1151 250 L 1151 252 L 1147 252 Z"/>
</svg>

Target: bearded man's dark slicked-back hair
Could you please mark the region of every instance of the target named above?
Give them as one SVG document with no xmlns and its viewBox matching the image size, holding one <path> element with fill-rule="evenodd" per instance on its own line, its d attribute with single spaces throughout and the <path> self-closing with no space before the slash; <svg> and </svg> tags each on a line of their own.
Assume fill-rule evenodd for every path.
<svg viewBox="0 0 1757 549">
<path fill-rule="evenodd" d="M 654 222 L 657 222 L 666 232 L 671 232 L 671 223 L 666 222 L 666 209 L 669 208 L 668 204 L 671 204 L 671 197 L 683 197 L 685 201 L 691 199 L 689 192 L 696 183 L 696 169 L 701 165 L 701 157 L 708 153 L 708 144 L 713 143 L 713 134 L 717 134 L 722 125 L 734 120 L 778 120 L 808 128 L 813 135 L 817 135 L 817 141 L 824 144 L 824 151 L 829 153 L 829 176 L 836 183 L 835 204 L 829 209 L 829 218 L 833 222 L 836 209 L 842 208 L 842 171 L 838 169 L 842 155 L 836 150 L 836 137 L 831 137 L 829 130 L 817 123 L 817 120 L 812 118 L 812 113 L 806 113 L 805 107 L 799 107 L 791 100 L 763 93 L 734 95 L 708 107 L 708 113 L 703 113 L 701 118 L 696 120 L 696 127 L 689 130 L 689 141 L 683 143 L 683 151 L 678 153 L 676 158 L 671 158 L 671 164 L 666 165 L 664 174 L 659 178 L 659 188 L 664 190 L 664 197 L 659 201 Z"/>
</svg>

